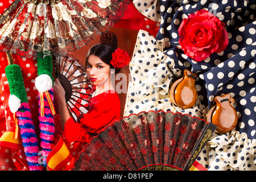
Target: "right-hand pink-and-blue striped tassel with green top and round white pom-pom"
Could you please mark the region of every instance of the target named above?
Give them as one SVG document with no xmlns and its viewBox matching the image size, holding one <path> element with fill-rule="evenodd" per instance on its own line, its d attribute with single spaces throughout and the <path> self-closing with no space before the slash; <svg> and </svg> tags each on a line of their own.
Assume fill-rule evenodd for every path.
<svg viewBox="0 0 256 182">
<path fill-rule="evenodd" d="M 47 166 L 46 158 L 54 147 L 54 120 L 56 113 L 53 106 L 53 76 L 52 76 L 52 56 L 49 51 L 38 53 L 38 77 L 35 85 L 39 95 L 39 129 L 40 147 L 42 148 L 43 166 Z"/>
</svg>

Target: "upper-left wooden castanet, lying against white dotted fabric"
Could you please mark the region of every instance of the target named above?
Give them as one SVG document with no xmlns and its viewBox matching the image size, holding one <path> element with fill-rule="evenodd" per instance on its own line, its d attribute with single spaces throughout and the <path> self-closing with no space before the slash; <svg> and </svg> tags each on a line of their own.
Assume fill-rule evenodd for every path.
<svg viewBox="0 0 256 182">
<path fill-rule="evenodd" d="M 196 78 L 196 73 L 191 73 L 189 70 L 185 69 L 183 77 L 176 80 L 171 86 L 171 100 L 181 109 L 188 109 L 196 104 L 198 97 L 195 86 Z"/>
</svg>

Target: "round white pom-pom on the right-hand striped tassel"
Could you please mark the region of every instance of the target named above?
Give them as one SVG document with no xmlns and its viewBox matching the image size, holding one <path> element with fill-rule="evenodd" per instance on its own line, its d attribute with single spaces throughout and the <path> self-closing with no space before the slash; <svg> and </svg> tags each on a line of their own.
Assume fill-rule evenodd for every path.
<svg viewBox="0 0 256 182">
<path fill-rule="evenodd" d="M 52 79 L 49 75 L 40 75 L 35 78 L 35 86 L 39 92 L 46 92 L 52 88 Z"/>
</svg>

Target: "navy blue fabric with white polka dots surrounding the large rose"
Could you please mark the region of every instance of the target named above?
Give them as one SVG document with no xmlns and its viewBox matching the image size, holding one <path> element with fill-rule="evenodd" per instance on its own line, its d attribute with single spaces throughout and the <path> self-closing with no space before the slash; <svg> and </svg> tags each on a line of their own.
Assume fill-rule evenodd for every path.
<svg viewBox="0 0 256 182">
<path fill-rule="evenodd" d="M 144 1 L 140 1 L 143 5 Z M 152 1 L 155 2 L 155 1 Z M 230 93 L 236 100 L 239 121 L 236 130 L 256 138 L 256 84 L 255 84 L 255 5 L 254 1 L 159 1 L 150 14 L 160 11 L 161 23 L 156 39 L 170 39 L 164 49 L 175 61 L 175 68 L 189 69 L 199 74 L 199 100 L 207 109 L 214 104 L 214 97 Z M 147 2 L 150 4 L 150 2 Z M 136 6 L 138 8 L 138 5 Z M 142 6 L 140 6 L 142 8 Z M 226 24 L 229 44 L 220 53 L 213 53 L 201 62 L 184 55 L 179 46 L 178 28 L 183 19 L 197 10 L 205 9 Z M 142 12 L 144 12 L 143 10 Z M 147 13 L 148 14 L 148 13 Z M 169 52 L 172 52 L 170 55 Z M 174 53 L 173 53 L 174 52 Z"/>
</svg>

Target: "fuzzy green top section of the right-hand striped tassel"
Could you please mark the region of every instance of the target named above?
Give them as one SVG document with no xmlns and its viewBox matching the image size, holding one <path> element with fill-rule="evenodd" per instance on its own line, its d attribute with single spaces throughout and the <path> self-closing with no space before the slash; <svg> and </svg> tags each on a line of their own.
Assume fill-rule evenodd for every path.
<svg viewBox="0 0 256 182">
<path fill-rule="evenodd" d="M 52 56 L 49 51 L 38 52 L 38 75 L 46 74 L 51 77 L 52 76 Z"/>
</svg>

